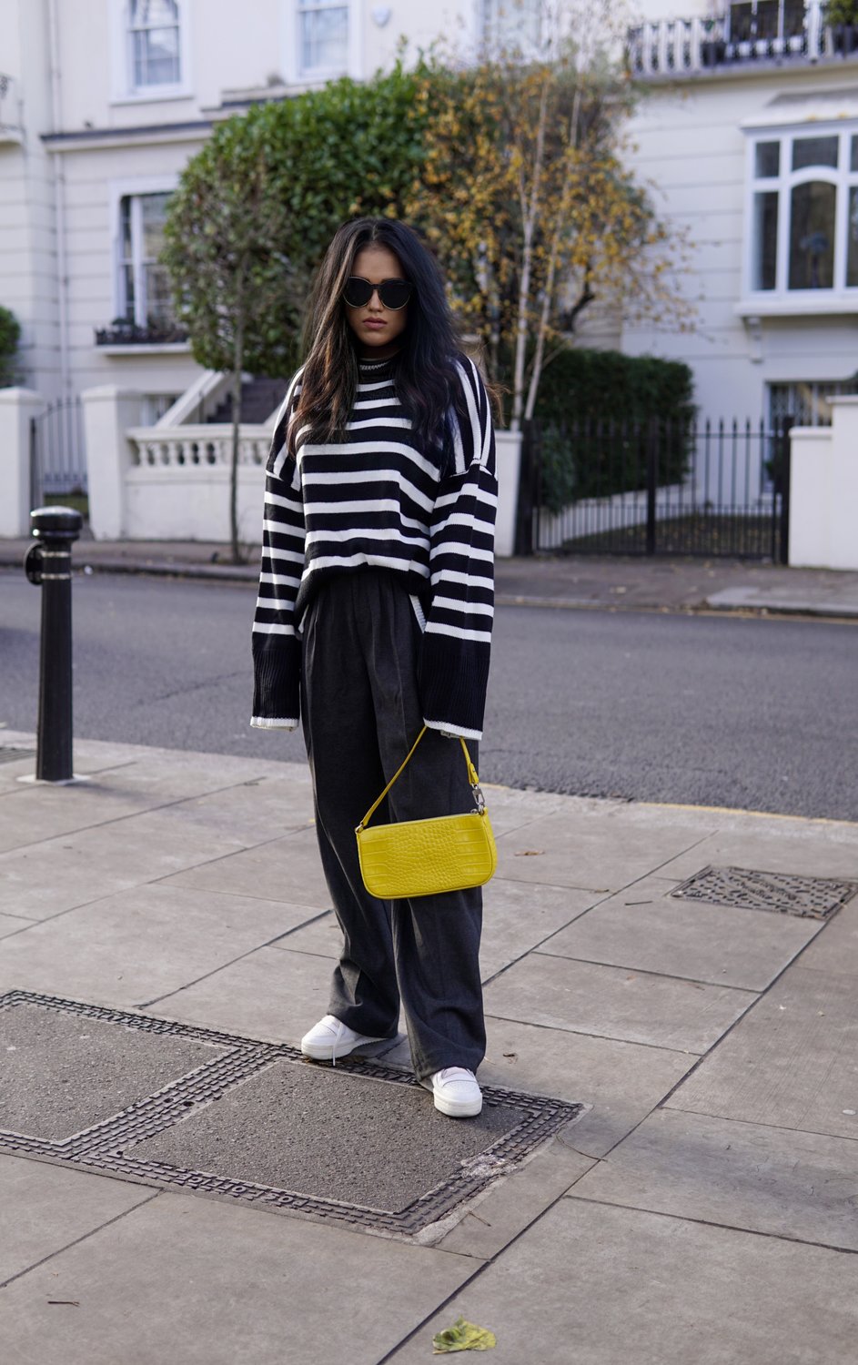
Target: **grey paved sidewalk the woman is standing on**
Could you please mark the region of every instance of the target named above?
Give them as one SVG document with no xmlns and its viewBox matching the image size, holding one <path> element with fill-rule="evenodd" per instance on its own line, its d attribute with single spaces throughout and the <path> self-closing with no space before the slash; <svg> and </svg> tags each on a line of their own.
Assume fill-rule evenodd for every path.
<svg viewBox="0 0 858 1365">
<path fill-rule="evenodd" d="M 490 789 L 457 1122 L 401 1041 L 295 1059 L 338 943 L 306 766 L 79 741 L 49 786 L 33 748 L 3 732 L 0 1358 L 411 1365 L 460 1313 L 497 1365 L 854 1357 L 858 826 Z M 709 867 L 745 874 L 672 894 Z M 527 1096 L 588 1108 L 501 1159 Z M 479 1190 L 387 1230 L 424 1147 Z"/>
</svg>

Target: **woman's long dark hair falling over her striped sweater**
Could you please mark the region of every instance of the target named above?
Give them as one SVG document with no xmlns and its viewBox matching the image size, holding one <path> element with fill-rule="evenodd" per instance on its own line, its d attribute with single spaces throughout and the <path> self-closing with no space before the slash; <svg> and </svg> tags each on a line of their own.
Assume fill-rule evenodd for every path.
<svg viewBox="0 0 858 1365">
<path fill-rule="evenodd" d="M 397 397 L 411 418 L 421 446 L 445 449 L 445 415 L 461 404 L 456 384 L 460 344 L 447 307 L 441 270 L 417 233 L 396 218 L 355 218 L 337 229 L 314 284 L 304 328 L 301 392 L 289 429 L 289 453 L 296 433 L 308 429 L 314 442 L 333 441 L 345 430 L 357 390 L 355 336 L 345 318 L 342 289 L 355 273 L 355 258 L 366 246 L 383 246 L 402 262 L 413 284 L 408 325 L 394 362 Z M 461 414 L 464 415 L 464 414 Z"/>
</svg>

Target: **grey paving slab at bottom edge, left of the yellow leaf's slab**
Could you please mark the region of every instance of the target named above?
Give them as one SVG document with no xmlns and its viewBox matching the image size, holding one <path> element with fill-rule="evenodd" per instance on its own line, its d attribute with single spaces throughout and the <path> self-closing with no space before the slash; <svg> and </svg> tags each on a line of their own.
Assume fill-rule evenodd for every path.
<svg viewBox="0 0 858 1365">
<path fill-rule="evenodd" d="M 450 1252 L 162 1193 L 8 1286 L 4 1355 L 378 1365 L 473 1268 Z"/>
</svg>

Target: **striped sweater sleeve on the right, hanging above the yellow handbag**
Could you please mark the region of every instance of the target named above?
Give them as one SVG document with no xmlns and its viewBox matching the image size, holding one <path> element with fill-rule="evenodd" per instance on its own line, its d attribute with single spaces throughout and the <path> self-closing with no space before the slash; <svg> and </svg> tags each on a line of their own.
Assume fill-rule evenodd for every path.
<svg viewBox="0 0 858 1365">
<path fill-rule="evenodd" d="M 454 468 L 438 486 L 430 539 L 431 603 L 420 670 L 423 718 L 434 730 L 483 734 L 498 506 L 488 396 L 473 362 L 458 362 L 465 419 L 453 414 Z"/>
</svg>

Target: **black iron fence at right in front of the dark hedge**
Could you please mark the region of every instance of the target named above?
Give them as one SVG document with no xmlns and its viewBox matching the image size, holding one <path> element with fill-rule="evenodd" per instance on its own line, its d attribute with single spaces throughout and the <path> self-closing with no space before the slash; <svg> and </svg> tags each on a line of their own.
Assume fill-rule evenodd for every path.
<svg viewBox="0 0 858 1365">
<path fill-rule="evenodd" d="M 528 423 L 516 550 L 786 564 L 791 426 Z"/>
</svg>

